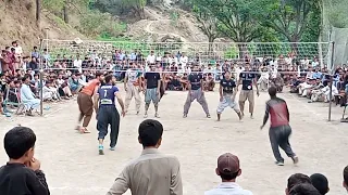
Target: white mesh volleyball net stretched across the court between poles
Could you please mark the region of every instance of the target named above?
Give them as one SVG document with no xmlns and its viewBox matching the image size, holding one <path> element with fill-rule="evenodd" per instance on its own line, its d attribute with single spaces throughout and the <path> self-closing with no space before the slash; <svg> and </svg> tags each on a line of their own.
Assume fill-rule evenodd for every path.
<svg viewBox="0 0 348 195">
<path fill-rule="evenodd" d="M 83 70 L 109 70 L 108 63 L 128 66 L 129 63 L 148 66 L 148 56 L 153 53 L 154 63 L 162 66 L 199 64 L 216 66 L 274 65 L 281 72 L 291 72 L 294 67 L 327 67 L 334 43 L 331 42 L 130 42 L 94 40 L 41 41 L 42 55 L 49 55 L 45 68 L 59 69 L 54 62 L 65 63 L 65 69 L 76 69 L 73 60 L 92 61 Z M 182 56 L 182 57 L 181 57 Z M 185 58 L 186 56 L 186 58 Z M 170 69 L 164 69 L 172 72 Z M 124 69 L 120 69 L 124 72 Z"/>
</svg>

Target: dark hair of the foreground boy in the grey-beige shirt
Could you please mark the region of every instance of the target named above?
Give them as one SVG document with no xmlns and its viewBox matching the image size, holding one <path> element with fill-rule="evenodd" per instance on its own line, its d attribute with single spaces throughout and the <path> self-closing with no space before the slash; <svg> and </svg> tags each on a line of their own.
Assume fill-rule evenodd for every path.
<svg viewBox="0 0 348 195">
<path fill-rule="evenodd" d="M 144 120 L 138 129 L 139 140 L 144 147 L 156 146 L 163 134 L 163 126 L 158 120 Z"/>
</svg>

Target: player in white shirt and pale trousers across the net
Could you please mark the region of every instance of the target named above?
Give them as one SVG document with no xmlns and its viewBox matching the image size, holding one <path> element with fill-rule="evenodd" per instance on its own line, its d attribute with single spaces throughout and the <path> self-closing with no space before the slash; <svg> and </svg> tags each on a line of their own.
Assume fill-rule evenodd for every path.
<svg viewBox="0 0 348 195">
<path fill-rule="evenodd" d="M 137 115 L 140 112 L 140 91 L 141 89 L 141 77 L 139 72 L 136 69 L 136 65 L 132 64 L 130 69 L 127 69 L 124 78 L 124 89 L 126 91 L 126 98 L 125 98 L 125 113 L 128 112 L 128 107 L 130 104 L 132 99 L 135 99 L 135 108 L 137 112 Z"/>
</svg>

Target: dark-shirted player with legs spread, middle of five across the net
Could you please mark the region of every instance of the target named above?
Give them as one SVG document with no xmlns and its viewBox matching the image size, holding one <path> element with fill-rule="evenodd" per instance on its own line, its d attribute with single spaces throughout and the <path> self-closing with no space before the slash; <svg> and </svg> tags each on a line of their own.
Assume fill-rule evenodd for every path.
<svg viewBox="0 0 348 195">
<path fill-rule="evenodd" d="M 187 117 L 189 107 L 191 103 L 197 100 L 197 102 L 202 106 L 207 118 L 210 118 L 209 108 L 207 104 L 207 100 L 203 92 L 203 76 L 202 74 L 198 74 L 199 70 L 198 65 L 194 66 L 192 73 L 188 76 L 188 94 L 184 105 L 184 118 Z"/>
</svg>

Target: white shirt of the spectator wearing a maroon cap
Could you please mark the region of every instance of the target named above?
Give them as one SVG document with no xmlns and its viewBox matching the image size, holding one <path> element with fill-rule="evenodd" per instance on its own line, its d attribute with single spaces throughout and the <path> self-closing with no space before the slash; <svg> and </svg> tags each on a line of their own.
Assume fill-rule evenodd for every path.
<svg viewBox="0 0 348 195">
<path fill-rule="evenodd" d="M 235 182 L 223 182 L 216 188 L 204 192 L 204 195 L 252 195 Z"/>
</svg>

